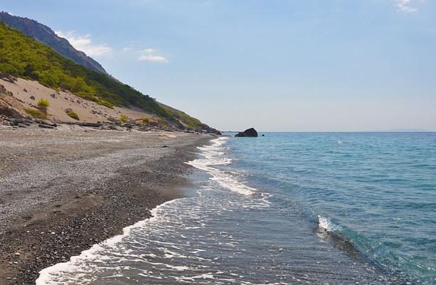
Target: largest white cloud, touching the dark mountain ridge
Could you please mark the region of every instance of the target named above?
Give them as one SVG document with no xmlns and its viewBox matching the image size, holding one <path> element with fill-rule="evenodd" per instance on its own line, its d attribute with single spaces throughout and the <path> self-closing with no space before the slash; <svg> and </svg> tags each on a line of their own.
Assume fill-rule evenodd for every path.
<svg viewBox="0 0 436 285">
<path fill-rule="evenodd" d="M 87 56 L 110 56 L 112 53 L 112 48 L 105 43 L 100 45 L 92 44 L 90 34 L 77 36 L 75 35 L 75 31 L 69 31 L 68 33 L 55 31 L 55 33 L 62 38 L 66 38 L 75 49 L 83 51 Z"/>
</svg>

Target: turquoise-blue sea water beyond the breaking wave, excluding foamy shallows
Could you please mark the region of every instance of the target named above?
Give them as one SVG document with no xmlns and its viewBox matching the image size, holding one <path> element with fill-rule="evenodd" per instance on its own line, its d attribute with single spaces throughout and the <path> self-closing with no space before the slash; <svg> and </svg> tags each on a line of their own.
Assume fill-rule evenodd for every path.
<svg viewBox="0 0 436 285">
<path fill-rule="evenodd" d="M 436 284 L 436 133 L 230 138 L 229 169 L 390 274 Z"/>
</svg>

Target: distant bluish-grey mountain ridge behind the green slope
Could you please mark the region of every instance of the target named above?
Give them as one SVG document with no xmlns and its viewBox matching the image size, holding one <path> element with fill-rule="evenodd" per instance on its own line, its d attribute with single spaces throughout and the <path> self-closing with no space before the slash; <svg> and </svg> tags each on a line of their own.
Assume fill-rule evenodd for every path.
<svg viewBox="0 0 436 285">
<path fill-rule="evenodd" d="M 75 63 L 90 68 L 92 71 L 98 73 L 107 74 L 105 68 L 100 63 L 97 63 L 94 59 L 87 56 L 83 51 L 76 50 L 71 44 L 43 24 L 38 23 L 32 19 L 27 19 L 19 16 L 13 16 L 6 12 L 0 12 L 0 21 L 4 22 L 11 28 L 16 28 L 18 31 L 22 31 L 25 35 L 30 36 L 37 41 L 41 41 L 46 46 L 50 46 L 55 51 L 69 58 Z"/>
</svg>

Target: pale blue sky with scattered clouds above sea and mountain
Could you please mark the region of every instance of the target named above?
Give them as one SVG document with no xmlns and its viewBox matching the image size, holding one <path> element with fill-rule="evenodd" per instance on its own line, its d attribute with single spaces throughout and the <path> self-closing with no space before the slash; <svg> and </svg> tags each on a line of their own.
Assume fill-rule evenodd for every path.
<svg viewBox="0 0 436 285">
<path fill-rule="evenodd" d="M 436 130 L 436 1 L 2 2 L 219 130 Z"/>
</svg>

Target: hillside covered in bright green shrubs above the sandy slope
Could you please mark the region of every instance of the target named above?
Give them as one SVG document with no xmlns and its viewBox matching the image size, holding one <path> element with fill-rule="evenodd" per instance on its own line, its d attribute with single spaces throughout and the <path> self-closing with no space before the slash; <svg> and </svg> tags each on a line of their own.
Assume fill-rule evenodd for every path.
<svg viewBox="0 0 436 285">
<path fill-rule="evenodd" d="M 38 81 L 55 90 L 70 90 L 107 108 L 136 107 L 178 128 L 208 129 L 199 120 L 160 105 L 134 88 L 60 56 L 52 48 L 0 23 L 0 74 Z"/>
</svg>

